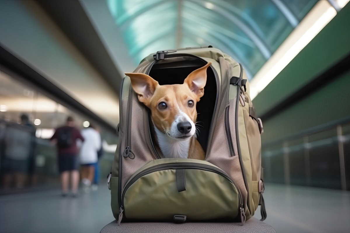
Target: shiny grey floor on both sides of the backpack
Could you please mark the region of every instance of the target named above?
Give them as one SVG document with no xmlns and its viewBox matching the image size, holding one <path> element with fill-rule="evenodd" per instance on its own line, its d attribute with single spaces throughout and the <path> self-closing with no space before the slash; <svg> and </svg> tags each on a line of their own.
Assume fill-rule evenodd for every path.
<svg viewBox="0 0 350 233">
<path fill-rule="evenodd" d="M 276 232 L 349 232 L 350 192 L 267 184 L 267 224 Z M 260 218 L 259 209 L 256 218 Z M 37 190 L 0 196 L 0 232 L 98 233 L 113 221 L 105 185 L 80 197 Z"/>
</svg>

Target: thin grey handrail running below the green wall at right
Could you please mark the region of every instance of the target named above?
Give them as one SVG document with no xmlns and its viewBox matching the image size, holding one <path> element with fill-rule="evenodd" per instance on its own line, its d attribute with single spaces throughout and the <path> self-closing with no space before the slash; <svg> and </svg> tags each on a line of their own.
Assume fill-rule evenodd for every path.
<svg viewBox="0 0 350 233">
<path fill-rule="evenodd" d="M 322 131 L 325 131 L 327 129 L 335 128 L 337 125 L 342 125 L 342 124 L 347 123 L 347 122 L 350 122 L 350 116 L 349 117 L 345 117 L 345 118 L 341 118 L 341 119 L 337 119 L 337 120 L 334 120 L 334 121 L 330 121 L 328 123 L 324 123 L 322 125 L 318 125 L 318 126 L 315 126 L 315 127 L 312 127 L 312 128 L 308 128 L 308 129 L 302 130 L 302 131 L 300 131 L 300 132 L 298 132 L 296 134 L 292 134 L 292 135 L 289 135 L 289 136 L 286 136 L 286 137 L 282 137 L 282 138 L 279 138 L 277 140 L 265 142 L 265 143 L 262 144 L 262 147 L 267 147 L 267 146 L 271 146 L 271 145 L 274 145 L 274 144 L 277 144 L 277 143 L 281 143 L 281 142 L 284 142 L 284 141 L 290 141 L 290 140 L 293 140 L 293 139 L 297 139 L 297 138 L 300 138 L 302 136 L 306 136 L 306 135 L 311 135 L 311 134 L 315 134 L 315 133 L 318 133 L 318 132 L 322 132 Z"/>
</svg>

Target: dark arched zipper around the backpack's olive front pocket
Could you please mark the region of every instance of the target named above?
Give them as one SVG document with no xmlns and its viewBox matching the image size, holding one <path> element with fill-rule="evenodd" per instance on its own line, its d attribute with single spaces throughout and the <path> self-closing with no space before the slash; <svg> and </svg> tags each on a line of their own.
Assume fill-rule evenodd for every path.
<svg viewBox="0 0 350 233">
<path fill-rule="evenodd" d="M 216 174 L 222 175 L 224 176 L 226 179 L 228 179 L 230 181 L 230 183 L 232 183 L 238 192 L 238 202 L 239 202 L 239 209 L 238 209 L 238 213 L 241 213 L 241 209 L 243 209 L 243 198 L 242 195 L 239 191 L 239 189 L 237 188 L 237 185 L 235 184 L 235 182 L 229 177 L 229 175 L 227 175 L 226 172 L 224 172 L 223 170 L 210 166 L 210 165 L 205 165 L 205 164 L 200 164 L 200 163 L 191 163 L 191 162 L 183 162 L 183 163 L 168 163 L 168 164 L 159 164 L 159 165 L 154 165 L 153 167 L 149 167 L 144 171 L 141 171 L 139 174 L 137 174 L 136 176 L 134 176 L 132 179 L 130 179 L 126 185 L 125 188 L 123 190 L 123 195 L 121 196 L 121 209 L 120 211 L 124 211 L 123 206 L 124 206 L 124 196 L 126 193 L 126 190 L 135 182 L 137 181 L 139 178 L 141 178 L 142 176 L 145 176 L 147 174 L 150 174 L 152 172 L 155 171 L 161 171 L 161 170 L 168 170 L 168 169 L 198 169 L 198 170 L 203 170 L 203 171 L 211 171 L 211 172 L 215 172 Z M 121 213 L 120 212 L 120 213 Z M 243 209 L 243 213 L 244 213 L 244 209 Z M 122 216 L 123 218 L 123 216 Z M 245 221 L 245 219 L 244 219 Z M 244 224 L 244 222 L 242 223 Z"/>
</svg>

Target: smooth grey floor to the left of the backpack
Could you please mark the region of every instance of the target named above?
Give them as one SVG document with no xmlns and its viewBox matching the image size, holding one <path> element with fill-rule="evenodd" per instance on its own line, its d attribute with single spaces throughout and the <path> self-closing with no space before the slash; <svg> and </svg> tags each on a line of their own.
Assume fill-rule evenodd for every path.
<svg viewBox="0 0 350 233">
<path fill-rule="evenodd" d="M 107 185 L 61 197 L 58 189 L 0 196 L 1 233 L 98 233 L 114 220 Z"/>
</svg>

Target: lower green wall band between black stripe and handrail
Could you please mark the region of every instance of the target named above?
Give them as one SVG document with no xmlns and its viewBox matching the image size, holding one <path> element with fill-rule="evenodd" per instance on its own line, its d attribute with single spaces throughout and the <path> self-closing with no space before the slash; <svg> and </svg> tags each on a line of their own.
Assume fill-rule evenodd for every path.
<svg viewBox="0 0 350 233">
<path fill-rule="evenodd" d="M 269 118 L 263 142 L 295 134 L 350 115 L 350 71 Z"/>
</svg>

